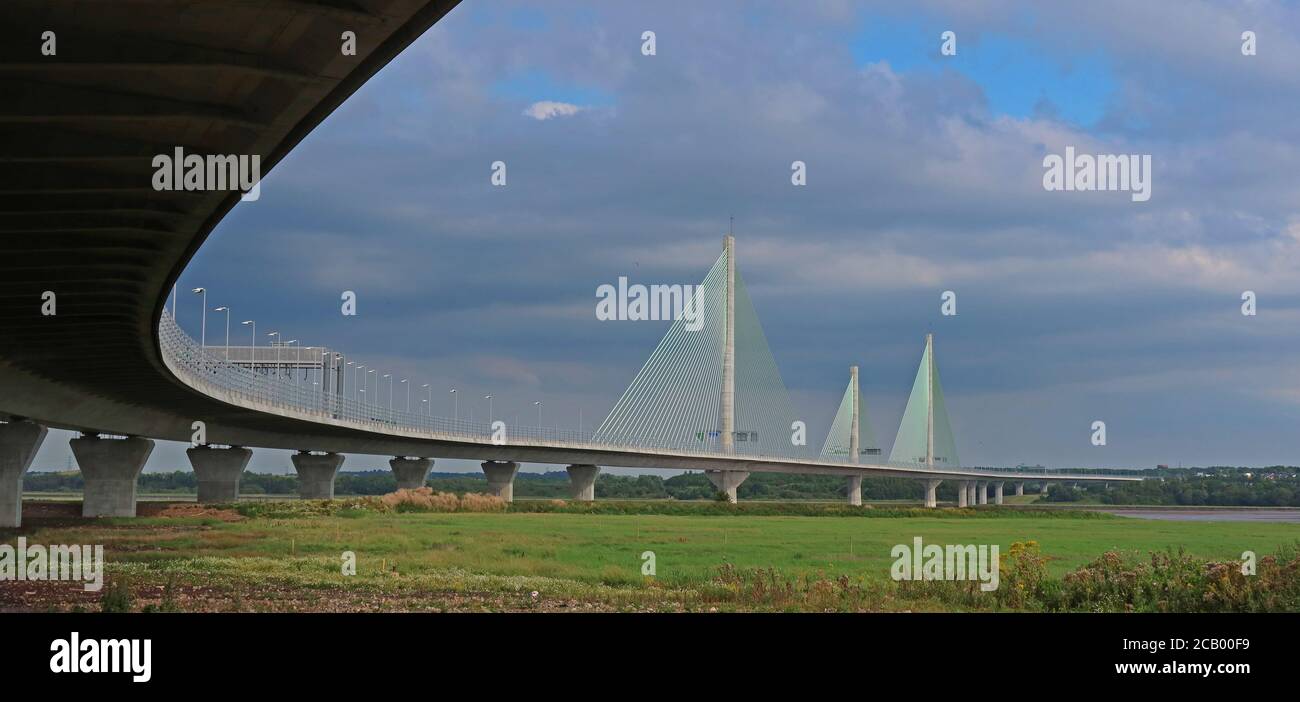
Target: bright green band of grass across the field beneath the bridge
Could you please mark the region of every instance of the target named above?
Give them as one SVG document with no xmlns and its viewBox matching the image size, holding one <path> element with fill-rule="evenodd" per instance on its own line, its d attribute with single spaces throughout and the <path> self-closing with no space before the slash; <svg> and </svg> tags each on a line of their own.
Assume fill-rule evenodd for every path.
<svg viewBox="0 0 1300 702">
<path fill-rule="evenodd" d="M 1036 541 L 1061 576 L 1104 551 L 1144 555 L 1186 549 L 1219 560 L 1260 554 L 1300 537 L 1294 524 L 1067 519 L 1053 516 L 805 517 L 601 514 L 380 514 L 332 516 L 104 520 L 40 529 L 29 542 L 104 543 L 109 559 L 159 564 L 177 559 L 337 559 L 358 555 L 359 571 L 381 562 L 404 572 L 463 569 L 589 584 L 641 582 L 641 554 L 654 551 L 658 577 L 694 582 L 723 563 L 785 575 L 888 577 L 889 552 L 914 537 L 927 543 Z M 13 540 L 9 540 L 10 542 Z M 216 563 L 216 562 L 214 562 Z M 234 563 L 231 567 L 237 568 Z M 328 572 L 328 571 L 326 571 Z"/>
</svg>

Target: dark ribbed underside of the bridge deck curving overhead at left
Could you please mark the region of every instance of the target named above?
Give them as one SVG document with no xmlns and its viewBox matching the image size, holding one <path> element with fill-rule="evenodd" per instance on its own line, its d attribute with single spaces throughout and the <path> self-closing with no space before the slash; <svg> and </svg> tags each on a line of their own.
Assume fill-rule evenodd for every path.
<svg viewBox="0 0 1300 702">
<path fill-rule="evenodd" d="M 259 155 L 265 174 L 456 1 L 6 0 L 0 417 L 181 441 L 203 419 L 250 439 L 324 439 L 164 367 L 164 299 L 239 196 L 156 191 L 152 157 Z M 344 31 L 356 56 L 341 51 Z"/>
</svg>

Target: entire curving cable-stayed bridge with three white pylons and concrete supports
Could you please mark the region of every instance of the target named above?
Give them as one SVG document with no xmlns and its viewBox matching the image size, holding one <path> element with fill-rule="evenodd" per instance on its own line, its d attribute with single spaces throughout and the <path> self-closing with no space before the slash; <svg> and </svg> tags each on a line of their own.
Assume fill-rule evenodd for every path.
<svg viewBox="0 0 1300 702">
<path fill-rule="evenodd" d="M 520 462 L 568 465 L 577 499 L 594 497 L 601 465 L 707 471 L 732 498 L 753 471 L 842 474 L 853 502 L 863 476 L 913 477 L 931 506 L 940 480 L 961 482 L 963 504 L 983 495 L 980 484 L 1000 491 L 1005 480 L 1135 480 L 962 468 L 930 341 L 888 460 L 852 376 L 826 441 L 792 441 L 800 419 L 732 244 L 698 294 L 705 322 L 696 332 L 675 322 L 592 433 L 500 432 L 378 407 L 324 377 L 302 382 L 304 368 L 338 370 L 329 351 L 318 363 L 277 358 L 268 373 L 259 348 L 240 364 L 203 347 L 168 315 L 166 292 L 240 192 L 160 190 L 153 157 L 182 147 L 250 155 L 269 173 L 455 1 L 136 5 L 6 4 L 16 35 L 57 26 L 61 49 L 16 46 L 0 70 L 0 91 L 13 98 L 0 108 L 0 526 L 18 524 L 22 474 L 51 426 L 83 434 L 72 450 L 87 516 L 135 514 L 153 439 L 196 443 L 188 454 L 204 502 L 238 495 L 252 447 L 296 450 L 306 498 L 333 495 L 344 452 L 394 456 L 402 486 L 422 484 L 434 458 L 482 460 L 507 499 Z M 341 56 L 341 32 L 358 25 L 356 55 Z"/>
</svg>

